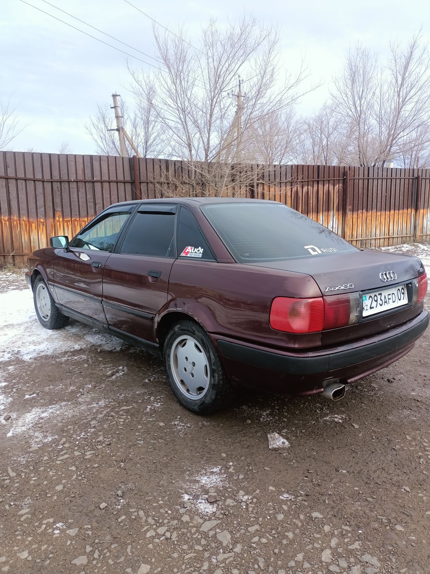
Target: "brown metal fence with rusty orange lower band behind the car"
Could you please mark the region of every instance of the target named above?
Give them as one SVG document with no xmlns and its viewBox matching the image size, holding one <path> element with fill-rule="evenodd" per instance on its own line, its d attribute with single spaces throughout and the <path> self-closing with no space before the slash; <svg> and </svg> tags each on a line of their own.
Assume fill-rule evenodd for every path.
<svg viewBox="0 0 430 574">
<path fill-rule="evenodd" d="M 242 195 L 281 201 L 358 247 L 430 241 L 430 169 L 253 166 Z M 0 263 L 24 265 L 117 201 L 171 194 L 181 161 L 0 152 Z M 228 192 L 231 195 L 231 191 Z"/>
</svg>

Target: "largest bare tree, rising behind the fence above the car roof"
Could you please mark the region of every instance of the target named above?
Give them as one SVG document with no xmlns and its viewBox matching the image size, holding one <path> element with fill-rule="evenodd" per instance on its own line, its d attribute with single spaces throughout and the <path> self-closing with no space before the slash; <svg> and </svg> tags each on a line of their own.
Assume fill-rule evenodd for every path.
<svg viewBox="0 0 430 574">
<path fill-rule="evenodd" d="M 128 69 L 136 101 L 151 102 L 167 135 L 165 155 L 187 162 L 193 194 L 221 195 L 232 181 L 242 193 L 251 176 L 239 164 L 253 160 L 258 130 L 299 98 L 306 64 L 281 77 L 279 30 L 248 15 L 227 29 L 211 19 L 198 48 L 183 28 L 155 27 L 154 38 L 159 68 Z"/>
</svg>

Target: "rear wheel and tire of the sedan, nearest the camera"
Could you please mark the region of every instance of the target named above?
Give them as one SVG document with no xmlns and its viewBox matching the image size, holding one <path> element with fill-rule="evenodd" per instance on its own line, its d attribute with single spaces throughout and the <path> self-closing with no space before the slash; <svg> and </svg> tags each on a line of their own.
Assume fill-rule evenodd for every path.
<svg viewBox="0 0 430 574">
<path fill-rule="evenodd" d="M 180 321 L 170 329 L 163 358 L 171 390 L 186 409 L 212 414 L 231 400 L 233 388 L 218 354 L 197 323 Z"/>
</svg>

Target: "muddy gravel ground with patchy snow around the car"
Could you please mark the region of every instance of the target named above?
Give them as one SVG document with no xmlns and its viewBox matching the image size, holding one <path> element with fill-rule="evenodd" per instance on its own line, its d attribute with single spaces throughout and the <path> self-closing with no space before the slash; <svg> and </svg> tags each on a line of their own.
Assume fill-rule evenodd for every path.
<svg viewBox="0 0 430 574">
<path fill-rule="evenodd" d="M 0 292 L 0 572 L 430 573 L 428 331 L 343 401 L 201 418 L 159 360 Z"/>
</svg>

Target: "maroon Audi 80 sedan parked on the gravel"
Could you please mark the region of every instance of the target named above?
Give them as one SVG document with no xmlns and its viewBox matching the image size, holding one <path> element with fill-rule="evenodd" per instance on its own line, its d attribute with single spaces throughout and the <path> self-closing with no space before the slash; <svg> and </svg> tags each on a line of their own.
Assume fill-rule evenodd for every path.
<svg viewBox="0 0 430 574">
<path fill-rule="evenodd" d="M 72 318 L 162 358 L 201 414 L 239 385 L 342 398 L 429 322 L 419 258 L 359 250 L 275 201 L 118 203 L 28 269 L 44 327 Z"/>
</svg>

